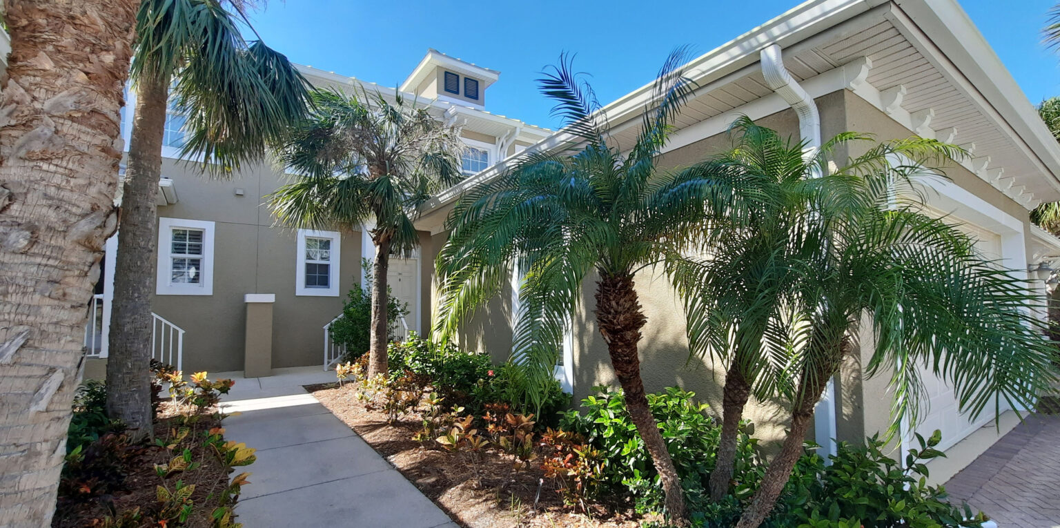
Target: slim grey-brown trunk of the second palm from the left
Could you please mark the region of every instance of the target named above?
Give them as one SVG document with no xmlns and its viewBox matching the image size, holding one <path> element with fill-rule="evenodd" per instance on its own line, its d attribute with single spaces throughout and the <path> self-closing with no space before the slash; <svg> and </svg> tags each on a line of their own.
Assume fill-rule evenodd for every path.
<svg viewBox="0 0 1060 528">
<path fill-rule="evenodd" d="M 152 436 L 151 292 L 155 280 L 155 229 L 162 135 L 170 80 L 137 84 L 136 113 L 122 195 L 114 262 L 114 292 L 107 355 L 107 413 L 129 426 L 130 439 Z"/>
</svg>

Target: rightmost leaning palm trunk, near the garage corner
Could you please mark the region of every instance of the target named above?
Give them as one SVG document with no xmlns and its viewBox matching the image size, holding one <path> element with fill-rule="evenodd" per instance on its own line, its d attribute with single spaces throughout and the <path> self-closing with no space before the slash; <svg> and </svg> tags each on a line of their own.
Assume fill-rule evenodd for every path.
<svg viewBox="0 0 1060 528">
<path fill-rule="evenodd" d="M 834 346 L 835 349 L 840 350 L 838 354 L 832 354 L 831 357 L 846 357 L 851 353 L 851 347 L 852 344 L 848 337 L 842 338 L 840 344 Z M 836 366 L 828 359 L 823 359 L 815 365 L 817 372 L 803 371 L 799 380 L 800 390 L 792 406 L 791 429 L 788 432 L 788 437 L 784 438 L 780 453 L 766 468 L 762 483 L 755 492 L 755 496 L 752 497 L 750 506 L 740 516 L 736 528 L 758 528 L 765 521 L 765 517 L 770 516 L 773 508 L 777 505 L 780 492 L 783 491 L 788 479 L 791 478 L 795 462 L 802 456 L 802 444 L 813 421 L 814 408 L 825 392 L 825 387 L 828 386 L 828 380 L 835 372 L 834 367 Z"/>
</svg>

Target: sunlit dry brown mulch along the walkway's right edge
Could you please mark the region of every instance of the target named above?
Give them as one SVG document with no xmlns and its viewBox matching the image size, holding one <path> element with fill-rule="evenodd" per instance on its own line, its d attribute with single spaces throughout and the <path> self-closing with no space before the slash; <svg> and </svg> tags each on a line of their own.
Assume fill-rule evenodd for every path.
<svg viewBox="0 0 1060 528">
<path fill-rule="evenodd" d="M 416 441 L 419 413 L 387 424 L 383 412 L 356 400 L 353 383 L 305 389 L 465 528 L 634 528 L 646 521 L 622 504 L 589 504 L 588 513 L 565 505 L 555 483 L 544 479 L 540 460 L 516 470 L 512 456 L 497 450 L 449 453 L 436 442 Z"/>
</svg>

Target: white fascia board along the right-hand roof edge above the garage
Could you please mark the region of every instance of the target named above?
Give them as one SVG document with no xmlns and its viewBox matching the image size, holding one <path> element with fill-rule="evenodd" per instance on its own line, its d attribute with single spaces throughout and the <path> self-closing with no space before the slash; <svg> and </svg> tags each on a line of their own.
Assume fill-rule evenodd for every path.
<svg viewBox="0 0 1060 528">
<path fill-rule="evenodd" d="M 1060 144 L 1002 64 L 1001 58 L 954 0 L 896 0 L 895 27 L 943 75 L 992 116 L 1060 193 Z"/>
</svg>

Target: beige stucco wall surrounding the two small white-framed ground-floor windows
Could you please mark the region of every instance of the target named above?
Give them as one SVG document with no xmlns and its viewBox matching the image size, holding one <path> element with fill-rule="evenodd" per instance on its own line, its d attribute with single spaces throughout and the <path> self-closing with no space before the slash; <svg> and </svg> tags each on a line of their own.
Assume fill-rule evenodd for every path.
<svg viewBox="0 0 1060 528">
<path fill-rule="evenodd" d="M 339 297 L 295 295 L 297 233 L 273 228 L 264 196 L 281 184 L 268 165 L 250 166 L 229 180 L 209 179 L 183 163 L 163 159 L 179 200 L 159 217 L 215 222 L 213 295 L 156 295 L 153 310 L 184 329 L 184 370 L 243 368 L 245 294 L 276 294 L 272 367 L 323 362 L 322 327 L 342 309 L 360 281 L 360 233 L 343 233 Z M 236 196 L 234 190 L 244 190 Z"/>
</svg>

